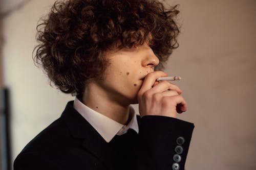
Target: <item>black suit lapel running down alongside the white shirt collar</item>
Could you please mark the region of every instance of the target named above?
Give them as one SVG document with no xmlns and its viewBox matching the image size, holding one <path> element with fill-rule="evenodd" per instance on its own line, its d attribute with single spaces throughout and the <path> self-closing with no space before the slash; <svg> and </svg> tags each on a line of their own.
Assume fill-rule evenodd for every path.
<svg viewBox="0 0 256 170">
<path fill-rule="evenodd" d="M 69 127 L 74 138 L 83 139 L 82 147 L 97 157 L 109 169 L 114 169 L 115 155 L 111 152 L 109 143 L 84 119 L 69 102 L 61 118 Z"/>
</svg>

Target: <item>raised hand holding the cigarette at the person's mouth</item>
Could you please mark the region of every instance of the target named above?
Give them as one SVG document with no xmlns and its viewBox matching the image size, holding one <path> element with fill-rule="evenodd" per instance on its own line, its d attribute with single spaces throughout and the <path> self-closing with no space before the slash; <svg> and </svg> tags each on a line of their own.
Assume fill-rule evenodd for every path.
<svg viewBox="0 0 256 170">
<path fill-rule="evenodd" d="M 167 77 L 163 71 L 154 71 L 145 77 L 143 84 L 138 91 L 140 116 L 161 115 L 176 117 L 177 112 L 187 110 L 187 104 L 180 95 L 182 90 L 167 81 L 157 82 L 160 77 Z"/>
</svg>

